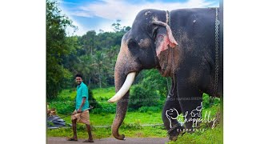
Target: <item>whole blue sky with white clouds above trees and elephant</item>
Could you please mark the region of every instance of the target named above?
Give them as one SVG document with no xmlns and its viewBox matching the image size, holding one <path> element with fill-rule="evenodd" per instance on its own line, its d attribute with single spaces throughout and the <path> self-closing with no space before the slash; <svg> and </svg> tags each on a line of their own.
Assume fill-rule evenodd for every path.
<svg viewBox="0 0 256 144">
<path fill-rule="evenodd" d="M 175 10 L 180 8 L 216 7 L 219 0 L 58 0 L 78 30 L 113 31 L 111 24 L 118 19 L 122 26 L 131 26 L 136 14 L 143 9 Z M 71 32 L 70 32 L 71 33 Z"/>
</svg>

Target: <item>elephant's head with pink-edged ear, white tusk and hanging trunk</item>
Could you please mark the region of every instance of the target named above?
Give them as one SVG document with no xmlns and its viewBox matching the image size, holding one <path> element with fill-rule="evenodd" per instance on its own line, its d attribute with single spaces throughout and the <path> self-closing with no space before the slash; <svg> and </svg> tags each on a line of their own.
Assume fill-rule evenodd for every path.
<svg viewBox="0 0 256 144">
<path fill-rule="evenodd" d="M 168 26 L 168 14 L 164 10 L 142 10 L 134 20 L 131 30 L 124 34 L 114 70 L 115 90 L 118 92 L 108 102 L 118 102 L 112 124 L 114 138 L 123 140 L 118 128 L 126 116 L 130 86 L 136 74 L 143 69 L 157 68 L 164 76 L 170 74 L 167 63 L 169 53 L 178 43 Z M 168 49 L 170 47 L 170 49 Z M 162 51 L 165 51 L 162 53 Z M 170 55 L 170 54 L 169 54 Z"/>
</svg>

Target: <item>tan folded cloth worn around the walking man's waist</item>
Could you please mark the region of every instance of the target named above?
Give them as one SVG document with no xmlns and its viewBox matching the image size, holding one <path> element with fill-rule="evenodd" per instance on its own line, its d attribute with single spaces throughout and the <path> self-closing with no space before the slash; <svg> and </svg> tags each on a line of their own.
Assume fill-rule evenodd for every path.
<svg viewBox="0 0 256 144">
<path fill-rule="evenodd" d="M 84 110 L 82 113 L 77 113 L 77 110 L 74 110 L 74 114 L 71 115 L 71 119 L 76 119 L 78 123 L 85 123 L 90 125 L 90 114 L 89 110 Z"/>
</svg>

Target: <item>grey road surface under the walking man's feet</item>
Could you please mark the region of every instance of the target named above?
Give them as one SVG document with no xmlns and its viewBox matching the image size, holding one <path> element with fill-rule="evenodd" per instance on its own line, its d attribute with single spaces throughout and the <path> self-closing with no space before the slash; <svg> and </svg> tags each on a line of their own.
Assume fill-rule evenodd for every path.
<svg viewBox="0 0 256 144">
<path fill-rule="evenodd" d="M 87 143 L 87 142 L 83 142 L 86 139 L 78 139 L 78 141 L 76 142 L 70 142 L 70 141 L 66 141 L 66 138 L 59 138 L 59 137 L 50 137 L 47 138 L 46 143 L 47 144 L 65 144 L 65 143 L 74 143 L 74 144 L 78 144 L 78 143 Z M 115 143 L 136 143 L 136 144 L 163 144 L 169 142 L 168 138 L 126 138 L 125 141 L 121 141 L 121 140 L 117 140 L 115 138 L 102 138 L 102 139 L 94 139 L 94 144 L 98 144 L 98 143 L 106 143 L 106 144 L 115 144 Z M 90 143 L 90 142 L 89 142 Z"/>
</svg>

